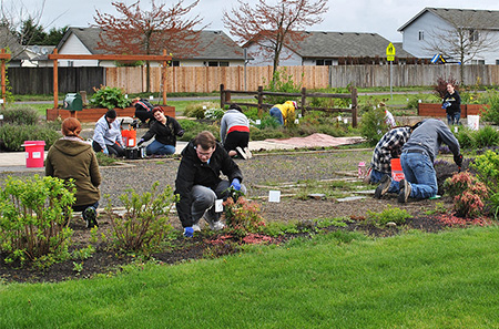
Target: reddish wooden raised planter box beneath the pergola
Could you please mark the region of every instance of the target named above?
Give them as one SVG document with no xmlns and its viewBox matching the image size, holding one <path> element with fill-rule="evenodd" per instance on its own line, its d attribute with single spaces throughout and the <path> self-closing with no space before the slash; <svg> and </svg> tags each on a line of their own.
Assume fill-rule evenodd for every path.
<svg viewBox="0 0 499 329">
<path fill-rule="evenodd" d="M 162 105 L 164 114 L 175 117 L 175 106 Z M 135 115 L 135 107 L 114 109 L 118 116 Z M 108 109 L 83 109 L 82 111 L 68 111 L 62 109 L 47 109 L 47 121 L 55 121 L 58 117 L 64 120 L 67 117 L 77 117 L 80 122 L 96 122 L 102 115 L 108 112 Z"/>
</svg>

